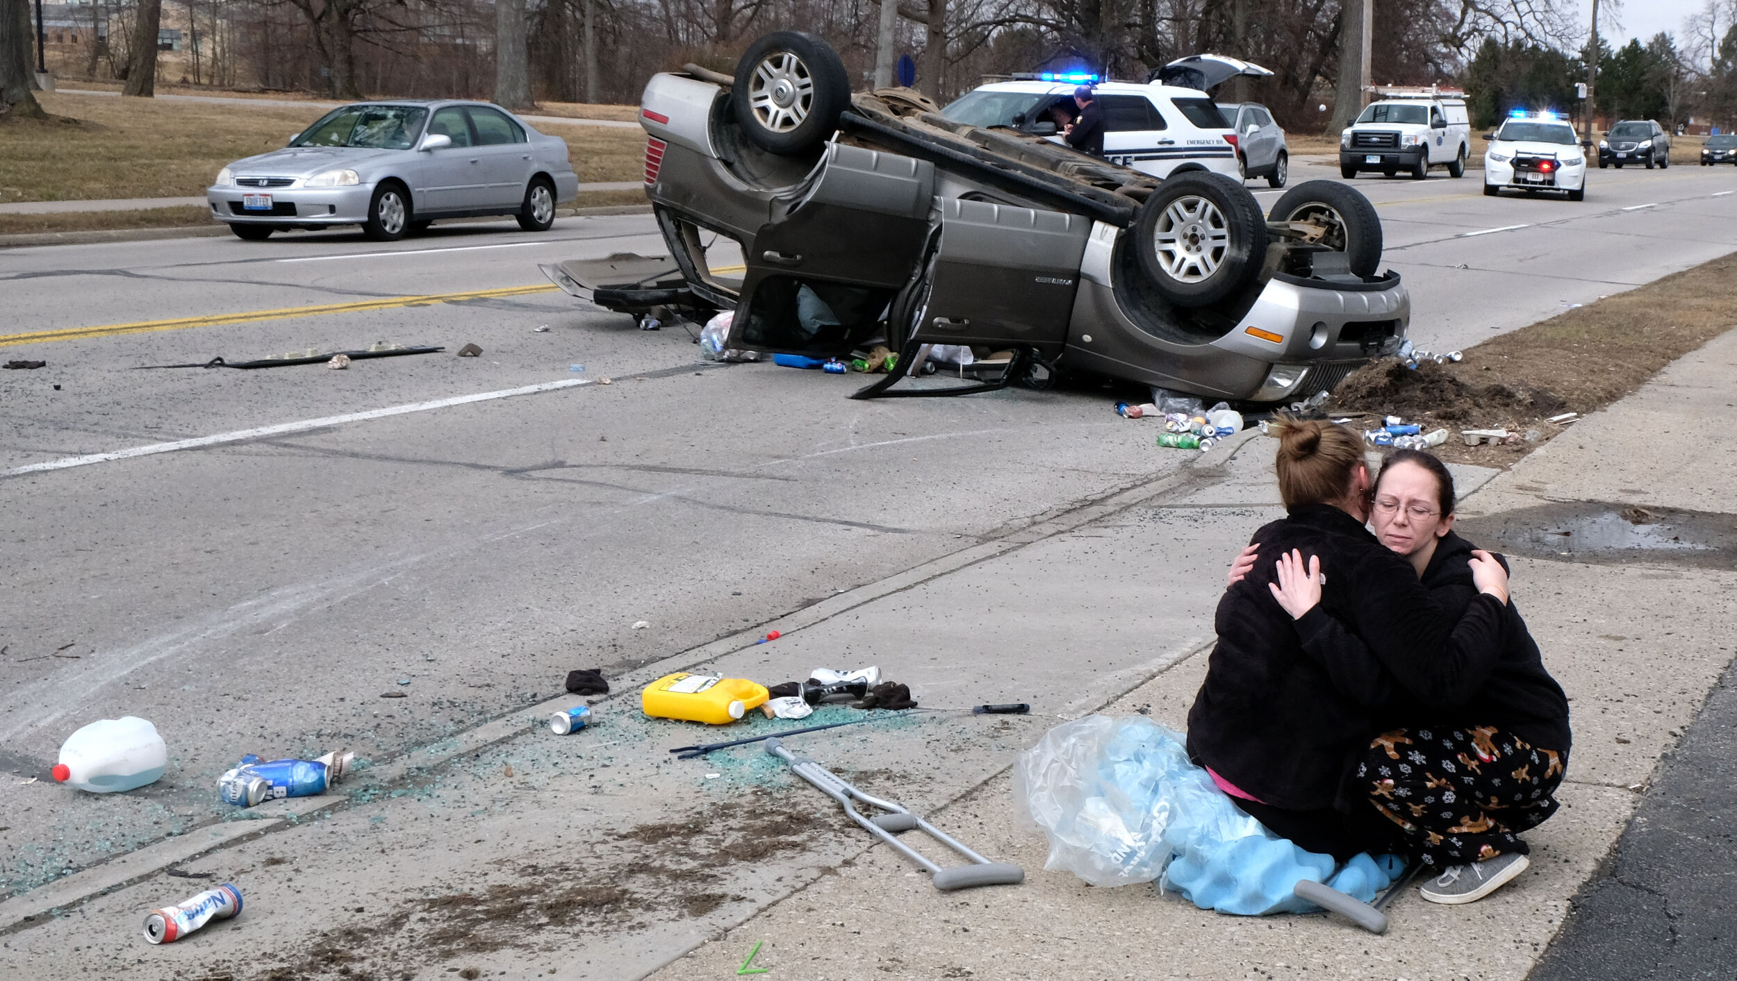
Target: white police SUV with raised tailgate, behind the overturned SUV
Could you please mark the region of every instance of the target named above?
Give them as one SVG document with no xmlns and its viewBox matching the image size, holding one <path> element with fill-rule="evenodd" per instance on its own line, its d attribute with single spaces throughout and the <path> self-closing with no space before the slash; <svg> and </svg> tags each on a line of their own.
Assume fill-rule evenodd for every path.
<svg viewBox="0 0 1737 981">
<path fill-rule="evenodd" d="M 1271 71 L 1216 54 L 1176 59 L 1145 85 L 1101 82 L 1096 75 L 1014 75 L 983 85 L 948 104 L 941 115 L 974 127 L 1011 127 L 1063 142 L 1061 128 L 1079 113 L 1073 89 L 1091 85 L 1103 113 L 1103 156 L 1153 177 L 1211 170 L 1242 181 L 1237 130 L 1205 90 L 1237 75 Z"/>
</svg>

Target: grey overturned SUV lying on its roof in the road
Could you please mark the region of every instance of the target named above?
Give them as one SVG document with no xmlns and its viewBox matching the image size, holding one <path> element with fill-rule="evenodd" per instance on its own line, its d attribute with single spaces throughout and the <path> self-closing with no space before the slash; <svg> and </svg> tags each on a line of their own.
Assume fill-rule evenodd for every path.
<svg viewBox="0 0 1737 981">
<path fill-rule="evenodd" d="M 1398 274 L 1377 274 L 1381 224 L 1355 189 L 1301 184 L 1268 221 L 1219 174 L 1159 181 L 952 122 L 908 89 L 853 95 L 811 35 L 759 38 L 733 78 L 657 75 L 639 118 L 679 274 L 622 283 L 610 260 L 545 273 L 624 313 L 733 309 L 726 347 L 902 354 L 855 398 L 1046 387 L 1082 370 L 1284 403 L 1395 351 L 1410 316 Z M 709 266 L 716 236 L 740 245 L 735 274 Z M 1013 358 L 987 385 L 889 391 L 924 344 Z"/>
</svg>

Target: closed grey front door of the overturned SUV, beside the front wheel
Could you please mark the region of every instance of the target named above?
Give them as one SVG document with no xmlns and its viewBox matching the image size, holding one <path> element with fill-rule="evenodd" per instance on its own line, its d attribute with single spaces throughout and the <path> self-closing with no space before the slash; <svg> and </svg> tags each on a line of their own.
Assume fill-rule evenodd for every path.
<svg viewBox="0 0 1737 981">
<path fill-rule="evenodd" d="M 1093 221 L 948 198 L 912 339 L 1061 352 Z"/>
</svg>

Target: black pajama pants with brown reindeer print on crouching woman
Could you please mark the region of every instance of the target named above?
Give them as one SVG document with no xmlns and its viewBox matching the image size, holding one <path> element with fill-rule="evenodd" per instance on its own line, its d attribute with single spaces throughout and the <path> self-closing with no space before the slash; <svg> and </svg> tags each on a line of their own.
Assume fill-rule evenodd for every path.
<svg viewBox="0 0 1737 981">
<path fill-rule="evenodd" d="M 1556 813 L 1567 762 L 1494 726 L 1428 726 L 1377 736 L 1357 776 L 1410 853 L 1442 868 L 1527 854 L 1518 833 Z"/>
</svg>

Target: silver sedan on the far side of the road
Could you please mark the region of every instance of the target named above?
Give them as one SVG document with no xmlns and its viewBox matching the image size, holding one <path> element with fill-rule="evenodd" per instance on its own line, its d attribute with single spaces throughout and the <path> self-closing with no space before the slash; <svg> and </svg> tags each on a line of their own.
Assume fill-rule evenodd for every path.
<svg viewBox="0 0 1737 981">
<path fill-rule="evenodd" d="M 212 217 L 255 241 L 342 224 L 393 241 L 474 215 L 516 215 L 544 231 L 556 203 L 577 194 L 561 137 L 488 102 L 410 99 L 332 109 L 285 149 L 224 167 L 205 189 Z"/>
</svg>

